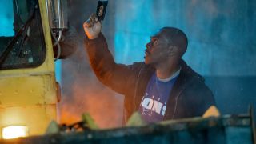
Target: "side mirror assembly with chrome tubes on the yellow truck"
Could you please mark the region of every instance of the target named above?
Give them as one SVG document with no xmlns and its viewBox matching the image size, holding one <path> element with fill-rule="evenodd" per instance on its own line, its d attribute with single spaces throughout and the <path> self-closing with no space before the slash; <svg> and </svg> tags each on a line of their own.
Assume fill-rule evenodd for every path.
<svg viewBox="0 0 256 144">
<path fill-rule="evenodd" d="M 76 30 L 68 28 L 67 0 L 46 0 L 54 58 L 70 57 L 77 50 Z"/>
</svg>

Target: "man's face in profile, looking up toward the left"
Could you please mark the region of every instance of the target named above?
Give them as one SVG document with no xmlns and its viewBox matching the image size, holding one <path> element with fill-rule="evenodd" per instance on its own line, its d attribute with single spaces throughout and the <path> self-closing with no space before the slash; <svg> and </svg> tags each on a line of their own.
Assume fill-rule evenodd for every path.
<svg viewBox="0 0 256 144">
<path fill-rule="evenodd" d="M 146 44 L 145 63 L 158 65 L 166 62 L 168 58 L 168 42 L 166 38 L 161 37 L 161 31 L 150 38 L 150 42 Z"/>
</svg>

